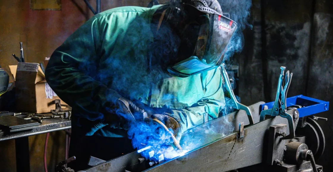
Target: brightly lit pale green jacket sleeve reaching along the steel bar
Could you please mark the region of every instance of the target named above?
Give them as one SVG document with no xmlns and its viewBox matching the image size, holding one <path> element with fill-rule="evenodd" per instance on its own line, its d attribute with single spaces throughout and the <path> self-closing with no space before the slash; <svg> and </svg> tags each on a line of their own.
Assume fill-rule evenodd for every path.
<svg viewBox="0 0 333 172">
<path fill-rule="evenodd" d="M 225 106 L 221 69 L 217 68 L 201 75 L 205 75 L 202 76 L 202 83 L 205 84 L 204 97 L 188 109 L 171 110 L 170 113 L 165 113 L 174 117 L 180 123 L 181 132 L 205 122 L 206 115 L 210 119 L 217 118 L 219 112 Z"/>
</svg>

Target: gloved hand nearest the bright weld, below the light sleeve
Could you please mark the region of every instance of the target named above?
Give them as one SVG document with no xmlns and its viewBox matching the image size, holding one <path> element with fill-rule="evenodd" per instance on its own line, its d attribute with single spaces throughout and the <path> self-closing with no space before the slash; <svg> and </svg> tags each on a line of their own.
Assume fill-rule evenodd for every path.
<svg viewBox="0 0 333 172">
<path fill-rule="evenodd" d="M 159 121 L 163 122 L 169 130 L 172 130 L 174 137 L 179 142 L 181 138 L 181 129 L 180 124 L 178 123 L 178 121 L 176 121 L 176 119 L 165 114 L 153 114 L 151 117 L 153 119 L 158 119 Z"/>
</svg>

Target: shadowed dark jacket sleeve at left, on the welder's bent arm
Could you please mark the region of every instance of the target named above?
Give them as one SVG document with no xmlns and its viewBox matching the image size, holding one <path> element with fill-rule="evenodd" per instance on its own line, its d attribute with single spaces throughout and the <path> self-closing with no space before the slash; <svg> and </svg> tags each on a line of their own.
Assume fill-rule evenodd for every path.
<svg viewBox="0 0 333 172">
<path fill-rule="evenodd" d="M 91 120 L 103 118 L 101 112 L 105 107 L 120 97 L 96 80 L 103 40 L 97 21 L 93 17 L 77 29 L 54 51 L 45 70 L 47 83 L 54 92 Z"/>
</svg>

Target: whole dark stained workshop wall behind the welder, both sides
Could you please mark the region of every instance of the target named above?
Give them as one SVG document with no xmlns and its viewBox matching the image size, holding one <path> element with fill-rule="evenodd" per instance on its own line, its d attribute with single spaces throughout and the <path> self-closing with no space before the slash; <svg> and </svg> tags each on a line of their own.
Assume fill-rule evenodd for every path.
<svg viewBox="0 0 333 172">
<path fill-rule="evenodd" d="M 83 0 L 43 2 L 0 1 L 0 65 L 3 68 L 8 70 L 8 65 L 17 64 L 11 54 L 19 54 L 19 42 L 23 42 L 26 62 L 40 63 L 93 16 Z M 90 2 L 95 7 L 96 1 Z M 147 7 L 149 2 L 102 0 L 101 11 L 120 6 Z M 280 66 L 294 74 L 288 97 L 303 94 L 333 103 L 333 0 L 253 0 L 250 15 L 253 28 L 243 31 L 244 49 L 234 56 L 239 64 L 242 103 L 273 101 Z M 329 165 L 333 163 L 332 109 L 331 104 L 328 112 L 318 114 L 329 119 L 319 121 L 326 137 L 326 150 L 317 164 L 323 165 L 325 171 L 330 171 Z M 44 141 L 45 134 L 29 137 L 31 171 L 44 170 Z M 64 142 L 63 131 L 51 133 L 49 171 L 64 159 Z M 14 144 L 13 140 L 0 142 L 0 171 L 15 171 Z"/>
</svg>

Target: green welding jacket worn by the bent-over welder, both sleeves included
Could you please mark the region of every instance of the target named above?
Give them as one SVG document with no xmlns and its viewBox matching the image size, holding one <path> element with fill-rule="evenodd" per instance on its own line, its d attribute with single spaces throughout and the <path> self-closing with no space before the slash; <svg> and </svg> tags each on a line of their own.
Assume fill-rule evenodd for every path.
<svg viewBox="0 0 333 172">
<path fill-rule="evenodd" d="M 120 97 L 167 108 L 182 132 L 218 117 L 225 106 L 220 68 L 187 78 L 158 79 L 150 72 L 147 52 L 154 40 L 150 25 L 160 7 L 119 7 L 99 13 L 54 51 L 46 80 L 73 108 L 72 127 L 92 127 L 79 119 L 92 124 L 103 120 L 105 108 Z M 125 130 L 109 126 L 95 134 L 127 136 Z"/>
</svg>

